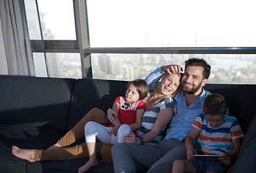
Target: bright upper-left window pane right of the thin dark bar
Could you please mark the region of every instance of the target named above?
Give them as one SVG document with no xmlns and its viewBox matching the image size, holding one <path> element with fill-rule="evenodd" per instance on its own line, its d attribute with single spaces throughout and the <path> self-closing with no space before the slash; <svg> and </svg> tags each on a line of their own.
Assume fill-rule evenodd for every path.
<svg viewBox="0 0 256 173">
<path fill-rule="evenodd" d="M 38 9 L 43 40 L 77 40 L 72 0 L 38 0 Z"/>
</svg>

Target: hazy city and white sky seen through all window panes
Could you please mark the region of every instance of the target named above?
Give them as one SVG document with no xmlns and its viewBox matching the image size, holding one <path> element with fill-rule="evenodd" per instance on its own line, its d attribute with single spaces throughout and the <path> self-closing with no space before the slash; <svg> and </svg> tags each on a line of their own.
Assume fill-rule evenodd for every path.
<svg viewBox="0 0 256 173">
<path fill-rule="evenodd" d="M 48 1 L 38 0 L 40 23 L 43 31 L 42 37 L 40 36 L 39 27 L 37 27 L 38 18 L 35 5 L 30 3 L 34 0 L 26 1 L 30 39 L 42 39 L 43 37 L 43 40 L 75 40 L 72 0 L 54 0 L 56 4 L 61 3 L 61 8 L 48 8 Z M 100 2 L 104 5 L 97 6 L 97 3 Z M 140 1 L 132 11 L 132 14 L 129 14 L 127 9 L 124 8 L 131 7 L 131 4 L 125 6 L 124 2 L 88 0 L 88 25 L 91 47 L 177 48 L 179 46 L 255 47 L 256 45 L 255 23 L 248 22 L 250 20 L 249 17 L 255 16 L 256 12 L 252 9 L 252 6 L 247 6 L 247 9 L 244 9 L 244 6 L 239 6 L 239 1 L 233 1 L 233 8 L 229 9 L 229 12 L 226 11 L 228 10 L 226 5 L 230 1 L 223 3 L 218 14 L 208 14 L 206 9 L 202 10 L 202 7 L 209 7 L 210 5 L 218 7 L 218 3 L 221 3 L 221 1 L 216 1 L 217 4 L 207 4 L 205 2 L 202 3 L 202 1 L 188 2 L 190 8 L 189 6 L 183 6 L 184 8 L 182 8 L 182 12 L 186 11 L 186 14 L 182 14 L 182 12 L 175 14 L 179 14 L 182 17 L 182 22 L 176 19 L 171 20 L 171 16 L 174 14 L 166 8 L 166 6 L 169 6 L 170 9 L 174 9 L 174 5 L 181 6 L 182 4 L 179 2 L 159 1 L 157 5 L 153 5 L 153 1 Z M 132 2 L 136 3 L 135 1 Z M 196 2 L 201 3 L 202 6 L 197 6 Z M 161 8 L 161 3 L 164 8 Z M 119 5 L 119 7 L 116 8 L 114 4 Z M 140 7 L 144 4 L 147 4 L 148 8 L 142 12 L 144 9 Z M 242 10 L 244 12 L 237 13 L 238 9 L 239 12 Z M 54 13 L 50 12 L 51 10 L 54 10 Z M 201 15 L 197 12 L 198 10 L 205 14 Z M 210 12 L 213 12 L 213 10 L 210 10 Z M 190 15 L 189 17 L 188 14 Z M 229 20 L 225 18 L 227 14 L 230 17 Z M 64 21 L 63 26 L 61 26 L 65 30 L 64 32 L 59 32 L 62 29 L 53 28 L 54 25 L 52 25 L 53 21 L 51 19 L 56 21 L 56 17 L 52 17 L 53 15 L 57 15 L 59 18 L 64 17 L 64 20 L 61 19 L 61 21 Z M 239 21 L 243 21 L 241 23 L 243 27 L 237 25 Z M 247 27 L 247 30 L 244 27 Z M 82 77 L 80 53 L 34 53 L 34 55 L 36 76 Z M 114 80 L 144 79 L 158 66 L 179 64 L 184 68 L 184 61 L 193 57 L 204 58 L 212 66 L 208 83 L 256 84 L 255 54 L 95 53 L 91 54 L 93 78 Z"/>
</svg>

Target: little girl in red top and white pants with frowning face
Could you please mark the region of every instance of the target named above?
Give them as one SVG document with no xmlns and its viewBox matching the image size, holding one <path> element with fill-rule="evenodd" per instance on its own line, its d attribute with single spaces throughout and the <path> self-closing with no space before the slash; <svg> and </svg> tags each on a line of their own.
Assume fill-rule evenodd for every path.
<svg viewBox="0 0 256 173">
<path fill-rule="evenodd" d="M 101 125 L 90 121 L 85 125 L 85 141 L 88 146 L 89 161 L 78 172 L 86 172 L 98 164 L 95 151 L 96 138 L 109 144 L 121 143 L 123 136 L 130 130 L 137 131 L 141 126 L 145 105 L 142 99 L 148 94 L 148 84 L 142 79 L 135 79 L 127 84 L 125 97 L 117 97 L 114 105 L 108 109 L 108 115 L 115 115 L 114 124 Z"/>
</svg>

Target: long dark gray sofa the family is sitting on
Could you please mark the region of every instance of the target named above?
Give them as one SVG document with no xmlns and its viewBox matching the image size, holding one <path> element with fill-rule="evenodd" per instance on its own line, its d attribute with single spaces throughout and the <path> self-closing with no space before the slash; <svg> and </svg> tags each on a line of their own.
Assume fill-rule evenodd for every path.
<svg viewBox="0 0 256 173">
<path fill-rule="evenodd" d="M 86 159 L 30 163 L 13 156 L 12 145 L 48 148 L 93 107 L 103 111 L 111 107 L 116 97 L 124 95 L 126 84 L 101 79 L 0 76 L 0 172 L 77 172 Z M 244 167 L 255 170 L 256 85 L 207 84 L 205 89 L 225 97 L 230 115 L 238 118 L 246 133 L 233 172 L 243 172 Z M 114 169 L 111 161 L 100 159 L 98 167 L 88 172 Z"/>
</svg>

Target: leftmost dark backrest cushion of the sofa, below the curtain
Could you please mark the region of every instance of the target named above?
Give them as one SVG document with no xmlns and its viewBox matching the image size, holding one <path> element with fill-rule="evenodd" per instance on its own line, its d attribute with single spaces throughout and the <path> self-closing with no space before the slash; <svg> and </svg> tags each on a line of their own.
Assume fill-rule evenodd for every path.
<svg viewBox="0 0 256 173">
<path fill-rule="evenodd" d="M 0 124 L 64 130 L 74 79 L 1 76 Z"/>
</svg>

